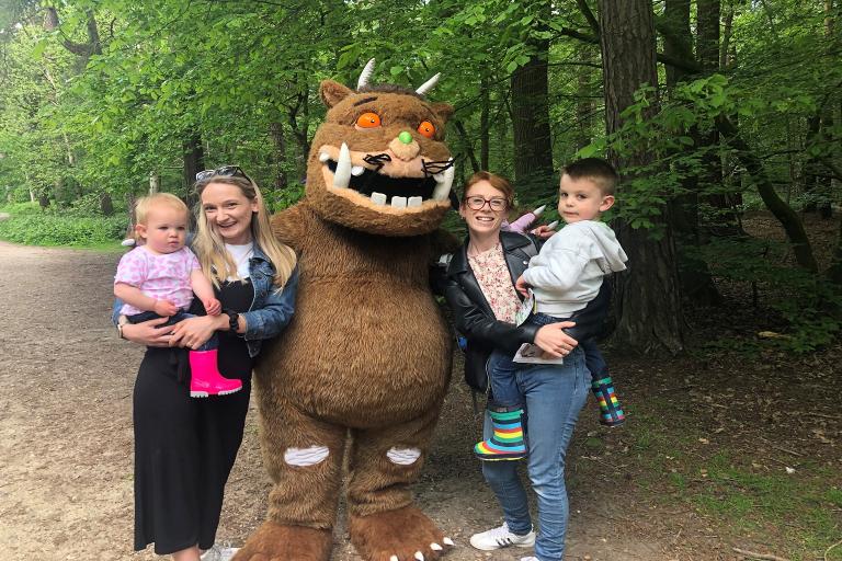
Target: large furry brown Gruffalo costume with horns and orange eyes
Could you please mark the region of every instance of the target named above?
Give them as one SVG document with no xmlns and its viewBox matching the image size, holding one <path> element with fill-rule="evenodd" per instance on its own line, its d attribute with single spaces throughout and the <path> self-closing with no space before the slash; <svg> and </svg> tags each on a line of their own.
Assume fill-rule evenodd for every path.
<svg viewBox="0 0 842 561">
<path fill-rule="evenodd" d="M 412 505 L 450 381 L 451 336 L 429 288 L 453 159 L 446 104 L 417 91 L 320 84 L 305 198 L 273 218 L 299 254 L 295 317 L 255 380 L 269 515 L 237 561 L 327 561 L 349 467 L 365 560 L 437 559 L 453 541 Z"/>
</svg>

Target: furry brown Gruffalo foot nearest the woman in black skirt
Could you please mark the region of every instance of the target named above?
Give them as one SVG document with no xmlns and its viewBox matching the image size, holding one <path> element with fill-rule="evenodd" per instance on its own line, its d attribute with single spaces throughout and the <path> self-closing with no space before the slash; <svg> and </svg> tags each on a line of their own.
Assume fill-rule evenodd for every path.
<svg viewBox="0 0 842 561">
<path fill-rule="evenodd" d="M 328 561 L 329 530 L 264 522 L 231 561 Z"/>
</svg>

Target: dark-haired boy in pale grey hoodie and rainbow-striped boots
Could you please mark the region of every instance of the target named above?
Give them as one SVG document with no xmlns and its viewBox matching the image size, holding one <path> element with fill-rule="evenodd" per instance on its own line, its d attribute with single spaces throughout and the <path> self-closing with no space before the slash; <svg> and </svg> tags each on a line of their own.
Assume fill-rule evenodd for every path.
<svg viewBox="0 0 842 561">
<path fill-rule="evenodd" d="M 596 297 L 605 275 L 624 271 L 626 253 L 614 231 L 599 218 L 614 204 L 618 176 L 605 160 L 585 158 L 561 170 L 558 214 L 567 226 L 532 257 L 515 288 L 524 295 L 532 287 L 535 317 L 549 322 L 567 321 Z M 546 317 L 550 318 L 546 318 Z M 543 324 L 547 321 L 542 321 Z M 600 403 L 600 422 L 616 426 L 625 421 L 600 350 L 593 341 L 580 341 L 591 371 L 591 389 Z M 494 435 L 474 447 L 483 460 L 512 460 L 526 456 L 523 439 L 523 396 L 515 380 L 517 365 L 511 356 L 494 352 L 489 359 L 493 401 L 489 404 Z"/>
</svg>

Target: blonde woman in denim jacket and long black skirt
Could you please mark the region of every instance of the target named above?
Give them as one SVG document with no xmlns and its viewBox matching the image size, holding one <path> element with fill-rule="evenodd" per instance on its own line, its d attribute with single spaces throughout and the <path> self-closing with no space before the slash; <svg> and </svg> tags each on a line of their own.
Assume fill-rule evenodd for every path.
<svg viewBox="0 0 842 561">
<path fill-rule="evenodd" d="M 201 172 L 195 190 L 198 231 L 192 250 L 223 313 L 164 329 L 159 325 L 167 318 L 118 321 L 117 328 L 124 339 L 147 345 L 134 392 L 135 549 L 153 542 L 157 554 L 175 561 L 232 554 L 220 556 L 214 541 L 242 442 L 251 370 L 262 342 L 292 319 L 298 284 L 295 253 L 272 234 L 260 190 L 240 168 Z M 242 391 L 191 399 L 186 350 L 214 333 L 219 371 L 242 380 Z M 202 550 L 210 551 L 201 556 Z"/>
</svg>

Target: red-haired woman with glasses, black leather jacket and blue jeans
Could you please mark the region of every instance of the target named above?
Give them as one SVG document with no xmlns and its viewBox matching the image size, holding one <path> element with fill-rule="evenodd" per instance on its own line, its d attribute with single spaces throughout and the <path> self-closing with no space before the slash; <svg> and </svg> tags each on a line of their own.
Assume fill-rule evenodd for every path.
<svg viewBox="0 0 842 561">
<path fill-rule="evenodd" d="M 532 547 L 537 557 L 522 561 L 562 559 L 568 502 L 565 488 L 565 455 L 579 411 L 590 388 L 577 339 L 596 333 L 606 307 L 601 294 L 578 312 L 576 323 L 515 325 L 521 299 L 514 283 L 537 251 L 537 241 L 516 232 L 501 231 L 514 192 L 503 178 L 488 172 L 471 176 L 459 204 L 468 238 L 447 267 L 445 297 L 456 330 L 467 340 L 465 379 L 477 391 L 487 391 L 486 365 L 493 350 L 513 355 L 523 343 L 533 343 L 564 364 L 524 365 L 516 373 L 526 410 L 528 474 L 537 495 L 537 535 L 530 518 L 526 492 L 514 461 L 483 461 L 482 474 L 497 495 L 504 523 L 470 538 L 477 549 L 490 551 L 508 546 Z M 574 331 L 572 329 L 574 328 Z M 489 396 L 490 404 L 493 396 Z M 493 435 L 486 415 L 485 439 Z"/>
</svg>

